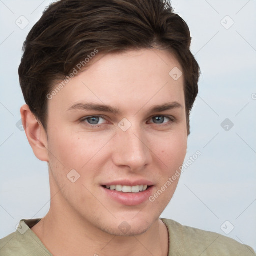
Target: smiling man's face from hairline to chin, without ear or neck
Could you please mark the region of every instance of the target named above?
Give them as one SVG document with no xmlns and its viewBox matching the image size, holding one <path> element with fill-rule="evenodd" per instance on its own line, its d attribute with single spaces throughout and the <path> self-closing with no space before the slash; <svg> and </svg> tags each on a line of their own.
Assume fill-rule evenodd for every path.
<svg viewBox="0 0 256 256">
<path fill-rule="evenodd" d="M 174 67 L 182 70 L 162 50 L 102 55 L 48 100 L 51 207 L 60 216 L 115 235 L 143 233 L 159 218 L 187 145 L 184 80 L 169 75 Z"/>
</svg>

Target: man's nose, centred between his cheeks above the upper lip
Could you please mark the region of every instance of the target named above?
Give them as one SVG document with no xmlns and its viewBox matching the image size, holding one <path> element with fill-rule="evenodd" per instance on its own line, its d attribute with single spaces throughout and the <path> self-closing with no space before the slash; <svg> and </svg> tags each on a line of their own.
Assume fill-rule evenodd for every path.
<svg viewBox="0 0 256 256">
<path fill-rule="evenodd" d="M 119 129 L 112 142 L 112 159 L 116 166 L 139 171 L 152 161 L 149 141 L 139 127 L 132 125 L 126 131 Z"/>
</svg>

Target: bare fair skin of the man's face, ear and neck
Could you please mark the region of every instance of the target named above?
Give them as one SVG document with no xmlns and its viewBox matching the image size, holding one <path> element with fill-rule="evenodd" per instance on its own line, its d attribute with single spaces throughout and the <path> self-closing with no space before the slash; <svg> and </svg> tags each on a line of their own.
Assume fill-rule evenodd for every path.
<svg viewBox="0 0 256 256">
<path fill-rule="evenodd" d="M 50 209 L 32 230 L 53 255 L 167 255 L 168 232 L 159 216 L 178 178 L 154 202 L 134 206 L 113 200 L 101 185 L 146 179 L 153 183 L 153 195 L 182 165 L 187 147 L 184 80 L 169 75 L 172 68 L 182 68 L 159 49 L 98 55 L 91 61 L 48 100 L 47 131 L 27 105 L 21 107 L 34 154 L 49 166 Z M 110 105 L 119 113 L 69 109 L 79 102 Z M 148 112 L 169 102 L 180 107 Z M 105 118 L 99 124 L 84 119 L 98 115 Z M 127 131 L 118 126 L 123 118 L 131 123 Z M 67 178 L 72 169 L 80 174 L 74 183 Z M 118 228 L 123 221 L 129 225 L 125 233 Z"/>
</svg>

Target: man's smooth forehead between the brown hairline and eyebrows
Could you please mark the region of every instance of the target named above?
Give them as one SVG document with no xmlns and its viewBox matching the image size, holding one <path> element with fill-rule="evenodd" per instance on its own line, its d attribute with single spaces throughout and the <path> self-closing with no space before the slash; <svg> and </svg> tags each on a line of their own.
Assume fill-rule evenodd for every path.
<svg viewBox="0 0 256 256">
<path fill-rule="evenodd" d="M 137 111 L 139 106 L 150 107 L 162 101 L 184 103 L 182 67 L 170 52 L 130 50 L 98 54 L 90 61 L 87 69 L 71 78 L 50 100 L 49 106 L 58 104 L 67 109 L 83 100 Z M 178 77 L 173 77 L 173 72 Z"/>
</svg>

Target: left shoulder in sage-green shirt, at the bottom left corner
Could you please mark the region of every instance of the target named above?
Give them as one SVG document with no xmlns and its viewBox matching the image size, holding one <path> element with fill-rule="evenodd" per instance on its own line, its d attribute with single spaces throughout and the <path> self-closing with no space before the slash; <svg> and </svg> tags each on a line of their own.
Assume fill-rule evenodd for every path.
<svg viewBox="0 0 256 256">
<path fill-rule="evenodd" d="M 49 256 L 50 253 L 30 227 L 21 220 L 17 231 L 0 239 L 1 256 Z"/>
</svg>

